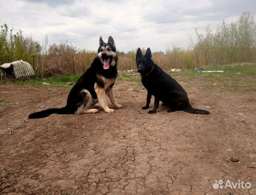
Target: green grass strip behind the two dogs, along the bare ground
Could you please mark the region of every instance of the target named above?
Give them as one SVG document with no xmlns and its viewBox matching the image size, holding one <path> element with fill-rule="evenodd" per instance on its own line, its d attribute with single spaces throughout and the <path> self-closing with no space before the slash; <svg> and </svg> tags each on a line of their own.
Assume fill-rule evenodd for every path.
<svg viewBox="0 0 256 195">
<path fill-rule="evenodd" d="M 224 70 L 223 73 L 207 73 L 207 72 L 197 72 L 194 70 L 187 70 L 175 73 L 168 73 L 170 76 L 174 78 L 178 78 L 182 80 L 182 78 L 186 79 L 195 79 L 199 78 L 202 81 L 212 81 L 212 82 L 232 82 L 232 84 L 239 82 L 243 83 L 255 83 L 255 74 L 256 74 L 256 65 L 255 64 L 248 64 L 245 63 L 241 64 L 234 64 L 234 65 L 220 65 L 214 67 L 203 67 L 204 71 L 211 71 L 211 70 Z M 68 82 L 75 83 L 78 78 L 82 74 L 75 74 L 75 75 L 62 75 L 60 77 L 48 77 L 45 79 L 42 78 L 32 78 L 26 80 L 11 80 L 9 82 L 14 84 L 20 85 L 30 85 L 34 87 L 69 87 L 71 88 L 73 85 L 68 85 Z M 192 76 L 192 77 L 189 77 Z M 117 80 L 123 80 L 128 82 L 133 82 L 134 85 L 141 85 L 141 76 L 139 73 L 127 73 L 127 72 L 119 72 Z M 49 83 L 50 85 L 42 85 L 42 82 Z M 233 83 L 234 82 L 234 83 Z M 6 80 L 3 80 L 3 83 L 6 83 Z M 130 85 L 133 85 L 130 83 Z M 209 88 L 215 89 L 218 88 L 219 85 L 212 86 Z M 127 88 L 128 89 L 128 88 Z M 127 90 L 126 87 L 120 88 L 120 91 Z M 237 87 L 237 89 L 241 89 L 241 87 Z M 247 91 L 255 91 L 255 87 L 245 87 Z M 138 91 L 136 91 L 138 92 Z"/>
</svg>

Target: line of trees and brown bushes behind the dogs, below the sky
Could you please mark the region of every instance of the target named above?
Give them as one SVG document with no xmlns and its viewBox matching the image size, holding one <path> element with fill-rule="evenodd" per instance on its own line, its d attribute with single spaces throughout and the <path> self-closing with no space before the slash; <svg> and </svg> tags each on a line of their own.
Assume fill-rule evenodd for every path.
<svg viewBox="0 0 256 195">
<path fill-rule="evenodd" d="M 215 32 L 209 25 L 203 32 L 194 30 L 196 36 L 188 36 L 188 49 L 169 45 L 165 52 L 152 53 L 154 62 L 167 70 L 256 61 L 256 24 L 249 12 L 230 24 L 223 20 Z M 118 51 L 118 55 L 119 70 L 136 69 L 136 50 Z M 22 59 L 32 65 L 38 77 L 84 72 L 95 56 L 95 51 L 81 50 L 68 42 L 48 45 L 47 35 L 39 43 L 24 37 L 22 30 L 13 34 L 7 24 L 1 26 L 0 64 Z"/>
</svg>

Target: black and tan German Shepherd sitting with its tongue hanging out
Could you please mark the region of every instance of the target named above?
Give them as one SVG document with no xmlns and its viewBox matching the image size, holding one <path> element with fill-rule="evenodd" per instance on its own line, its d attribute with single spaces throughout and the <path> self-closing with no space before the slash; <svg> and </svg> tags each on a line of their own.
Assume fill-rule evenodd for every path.
<svg viewBox="0 0 256 195">
<path fill-rule="evenodd" d="M 68 94 L 67 104 L 63 108 L 50 108 L 29 115 L 30 119 L 48 117 L 56 114 L 77 115 L 84 113 L 97 113 L 99 110 L 93 108 L 97 102 L 106 113 L 113 113 L 106 104 L 106 95 L 115 108 L 123 107 L 117 104 L 113 92 L 113 85 L 117 80 L 117 52 L 114 39 L 109 36 L 108 43 L 99 37 L 99 49 L 90 68 L 77 80 L 76 84 Z"/>
</svg>

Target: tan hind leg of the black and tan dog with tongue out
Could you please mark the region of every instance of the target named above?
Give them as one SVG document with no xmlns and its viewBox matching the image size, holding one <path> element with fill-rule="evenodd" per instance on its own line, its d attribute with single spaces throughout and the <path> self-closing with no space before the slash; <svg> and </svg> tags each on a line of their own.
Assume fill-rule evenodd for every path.
<svg viewBox="0 0 256 195">
<path fill-rule="evenodd" d="M 77 110 L 75 111 L 77 115 L 86 114 L 86 113 L 97 113 L 99 111 L 98 109 L 91 108 L 93 101 L 92 101 L 92 95 L 88 90 L 82 89 L 79 95 L 82 97 L 83 101 L 79 104 Z"/>
</svg>

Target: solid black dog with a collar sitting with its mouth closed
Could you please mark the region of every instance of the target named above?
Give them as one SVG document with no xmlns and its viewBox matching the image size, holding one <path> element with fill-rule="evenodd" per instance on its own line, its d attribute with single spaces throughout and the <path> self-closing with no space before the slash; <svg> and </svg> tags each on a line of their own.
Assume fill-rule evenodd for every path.
<svg viewBox="0 0 256 195">
<path fill-rule="evenodd" d="M 149 114 L 156 113 L 160 100 L 164 106 L 170 108 L 167 112 L 183 110 L 194 114 L 210 114 L 208 111 L 192 108 L 186 91 L 174 78 L 155 64 L 151 57 L 150 48 L 147 49 L 145 55 L 142 55 L 141 49 L 138 48 L 137 69 L 141 74 L 141 82 L 148 91 L 146 106 L 142 107 L 143 110 L 149 107 L 151 96 L 154 95 L 154 108 L 148 111 Z"/>
</svg>

